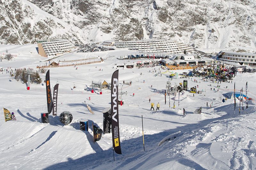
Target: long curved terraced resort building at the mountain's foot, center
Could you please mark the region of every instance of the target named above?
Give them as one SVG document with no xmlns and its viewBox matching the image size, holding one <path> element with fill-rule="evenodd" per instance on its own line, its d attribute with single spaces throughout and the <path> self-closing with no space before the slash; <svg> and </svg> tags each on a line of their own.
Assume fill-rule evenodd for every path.
<svg viewBox="0 0 256 170">
<path fill-rule="evenodd" d="M 137 41 L 104 41 L 103 46 L 115 46 L 116 48 L 128 48 L 141 53 L 183 53 L 192 52 L 193 49 L 182 42 L 170 40 L 144 39 Z"/>
</svg>

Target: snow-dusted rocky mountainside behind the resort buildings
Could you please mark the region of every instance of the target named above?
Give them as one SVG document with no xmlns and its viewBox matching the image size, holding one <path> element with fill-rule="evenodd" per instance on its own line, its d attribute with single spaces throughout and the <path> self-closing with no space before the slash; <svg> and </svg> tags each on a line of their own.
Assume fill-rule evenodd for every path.
<svg viewBox="0 0 256 170">
<path fill-rule="evenodd" d="M 171 39 L 256 48 L 255 0 L 0 0 L 0 43 Z"/>
</svg>

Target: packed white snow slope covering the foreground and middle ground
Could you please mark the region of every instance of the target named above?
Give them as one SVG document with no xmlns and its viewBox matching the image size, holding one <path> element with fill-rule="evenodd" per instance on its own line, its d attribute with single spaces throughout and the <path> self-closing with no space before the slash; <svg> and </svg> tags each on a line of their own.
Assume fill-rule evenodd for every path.
<svg viewBox="0 0 256 170">
<path fill-rule="evenodd" d="M 47 59 L 36 52 L 36 45 L 4 45 L 0 53 L 14 55 L 11 61 L 3 60 L 3 69 L 33 68 L 48 65 Z M 149 68 L 119 69 L 119 93 L 124 105 L 119 105 L 119 125 L 122 155 L 115 154 L 113 159 L 112 134 L 103 134 L 100 141 L 93 143 L 92 123 L 103 129 L 102 110 L 110 107 L 110 90 L 94 88 L 92 81 L 111 80 L 117 63 L 132 63 L 134 60 L 118 60 L 120 55 L 131 54 L 126 50 L 113 50 L 96 53 L 69 53 L 52 61 L 79 60 L 94 57 L 104 58 L 104 62 L 75 67 L 50 68 L 50 82 L 53 90 L 59 82 L 58 116 L 49 116 L 50 124 L 42 124 L 40 113 L 47 110 L 45 74 L 40 74 L 42 84 L 26 84 L 10 77 L 10 73 L 0 72 L 1 108 L 14 112 L 16 121 L 0 119 L 0 169 L 254 169 L 256 165 L 256 114 L 254 100 L 249 101 L 249 108 L 241 109 L 234 98 L 222 103 L 221 94 L 245 89 L 248 81 L 248 96 L 255 99 L 255 73 L 237 73 L 233 83 L 222 82 L 219 91 L 217 83 L 204 82 L 202 78 L 188 80 L 188 89 L 198 85 L 202 94 L 185 91 L 178 97 L 166 97 L 164 90 L 169 80 L 160 66 Z M 92 59 L 93 60 L 93 59 Z M 42 61 L 42 62 L 39 62 Z M 74 65 L 80 61 L 74 61 Z M 10 68 L 11 67 L 11 68 Z M 156 72 L 155 72 L 156 69 Z M 103 70 L 103 71 L 102 71 Z M 150 73 L 149 73 L 150 71 Z M 188 70 L 174 70 L 174 73 Z M 158 73 L 156 75 L 156 73 Z M 156 76 L 155 76 L 156 75 Z M 194 82 L 197 80 L 197 83 Z M 123 85 L 132 81 L 132 86 Z M 145 81 L 143 83 L 143 81 Z M 172 85 L 183 79 L 170 80 Z M 152 85 L 152 88 L 151 88 Z M 73 87 L 76 86 L 74 89 Z M 228 88 L 226 88 L 228 86 Z M 225 87 L 225 88 L 224 88 Z M 132 94 L 134 93 L 134 96 Z M 205 96 L 204 96 L 205 94 Z M 91 100 L 89 100 L 89 97 Z M 119 95 L 119 100 L 121 95 Z M 151 111 L 150 103 L 160 103 L 159 111 Z M 173 109 L 175 99 L 176 108 Z M 92 115 L 86 102 L 95 113 Z M 210 107 L 206 107 L 206 102 Z M 201 114 L 193 112 L 202 106 Z M 186 115 L 183 115 L 183 108 Z M 63 125 L 59 121 L 62 111 L 69 111 L 73 121 Z M 1 111 L 3 114 L 3 111 Z M 145 151 L 143 150 L 143 116 Z M 79 120 L 89 120 L 89 131 L 80 131 Z M 180 132 L 179 132 L 180 131 Z M 177 133 L 179 132 L 179 133 Z M 179 134 L 175 138 L 171 134 Z M 162 145 L 158 143 L 171 135 Z"/>
</svg>

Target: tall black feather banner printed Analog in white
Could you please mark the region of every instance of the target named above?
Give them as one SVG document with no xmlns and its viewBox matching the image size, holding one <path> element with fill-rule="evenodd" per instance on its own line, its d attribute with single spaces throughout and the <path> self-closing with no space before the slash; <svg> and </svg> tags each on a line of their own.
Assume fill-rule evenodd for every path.
<svg viewBox="0 0 256 170">
<path fill-rule="evenodd" d="M 118 70 L 113 73 L 111 78 L 111 115 L 113 148 L 117 154 L 122 154 L 118 120 Z"/>
</svg>

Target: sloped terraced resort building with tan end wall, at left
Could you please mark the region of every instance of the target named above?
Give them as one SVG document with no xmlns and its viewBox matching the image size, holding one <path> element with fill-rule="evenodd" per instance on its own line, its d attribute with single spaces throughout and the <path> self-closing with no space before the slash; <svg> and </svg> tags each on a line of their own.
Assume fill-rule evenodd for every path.
<svg viewBox="0 0 256 170">
<path fill-rule="evenodd" d="M 37 41 L 38 53 L 43 57 L 52 57 L 63 53 L 70 53 L 76 48 L 66 39 L 39 40 Z"/>
</svg>

